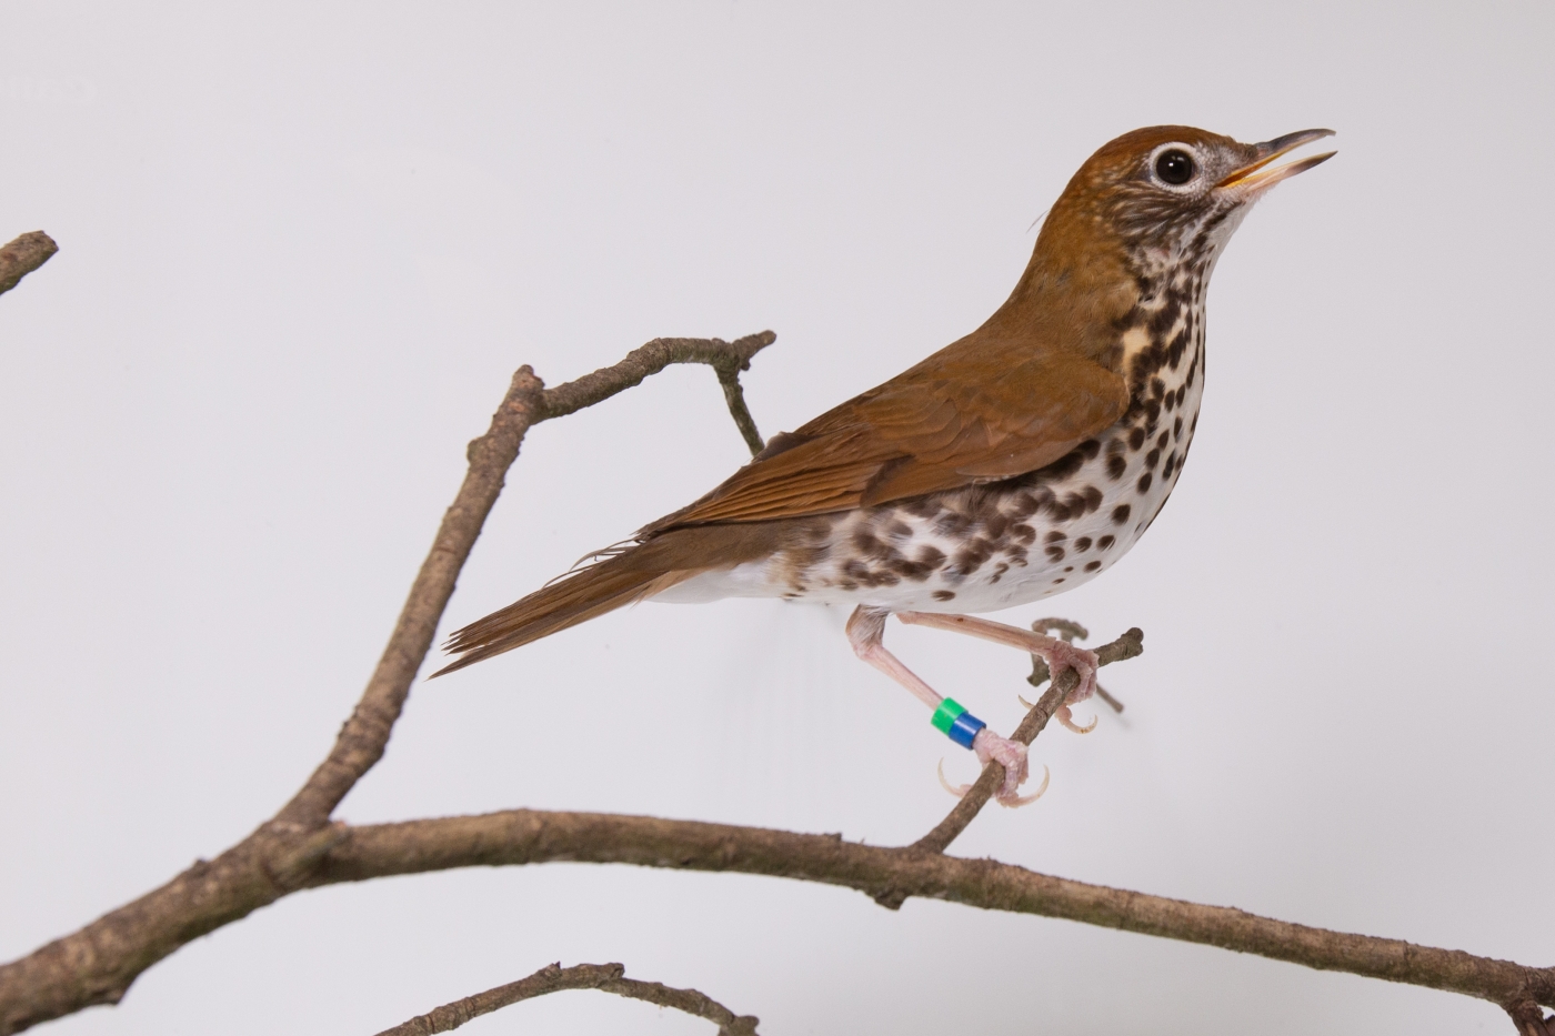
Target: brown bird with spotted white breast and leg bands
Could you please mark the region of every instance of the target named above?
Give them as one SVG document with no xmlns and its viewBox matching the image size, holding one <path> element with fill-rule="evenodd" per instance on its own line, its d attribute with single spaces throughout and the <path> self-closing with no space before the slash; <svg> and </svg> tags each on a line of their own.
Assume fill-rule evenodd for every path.
<svg viewBox="0 0 1555 1036">
<path fill-rule="evenodd" d="M 1336 152 L 1148 126 L 1102 145 L 1048 210 L 1009 299 L 975 331 L 767 442 L 695 502 L 454 632 L 434 677 L 639 600 L 782 597 L 851 605 L 854 653 L 1005 767 L 1026 747 L 941 695 L 885 647 L 889 616 L 1043 658 L 1096 688 L 1096 655 L 975 613 L 1107 571 L 1171 495 L 1199 423 L 1210 275 L 1253 202 Z M 1040 792 L 1039 792 L 1040 793 Z"/>
</svg>

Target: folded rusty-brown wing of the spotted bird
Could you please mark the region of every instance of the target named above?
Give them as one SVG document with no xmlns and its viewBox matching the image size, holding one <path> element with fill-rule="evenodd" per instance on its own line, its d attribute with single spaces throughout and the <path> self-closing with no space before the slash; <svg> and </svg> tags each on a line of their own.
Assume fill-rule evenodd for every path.
<svg viewBox="0 0 1555 1036">
<path fill-rule="evenodd" d="M 1023 474 L 1129 406 L 1124 380 L 1084 356 L 964 344 L 774 437 L 723 485 L 642 534 L 818 515 Z"/>
</svg>

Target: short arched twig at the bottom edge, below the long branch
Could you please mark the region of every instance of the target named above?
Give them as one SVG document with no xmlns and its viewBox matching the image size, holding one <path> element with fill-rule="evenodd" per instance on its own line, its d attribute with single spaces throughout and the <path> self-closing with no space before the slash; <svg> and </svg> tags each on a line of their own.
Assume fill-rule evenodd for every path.
<svg viewBox="0 0 1555 1036">
<path fill-rule="evenodd" d="M 490 1014 L 519 1000 L 530 1000 L 563 989 L 614 992 L 616 996 L 645 1000 L 704 1017 L 718 1025 L 718 1036 L 756 1036 L 756 1027 L 760 1020 L 750 1014 L 737 1016 L 712 997 L 695 989 L 675 989 L 658 982 L 638 982 L 636 978 L 627 978 L 625 972 L 627 969 L 622 964 L 575 964 L 572 968 L 563 968 L 560 963 L 547 964 L 527 978 L 445 1003 L 428 1014 L 420 1014 L 409 1022 L 386 1028 L 378 1036 L 432 1036 L 434 1033 L 449 1033 L 482 1014 Z"/>
</svg>

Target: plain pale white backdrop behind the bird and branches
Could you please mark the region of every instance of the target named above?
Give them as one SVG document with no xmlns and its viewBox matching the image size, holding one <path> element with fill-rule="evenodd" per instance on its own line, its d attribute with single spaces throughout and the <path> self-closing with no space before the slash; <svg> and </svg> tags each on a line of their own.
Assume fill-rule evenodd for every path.
<svg viewBox="0 0 1555 1036">
<path fill-rule="evenodd" d="M 1555 963 L 1555 8 L 0 3 L 0 958 L 323 756 L 512 370 L 779 342 L 793 428 L 980 324 L 1101 143 L 1339 131 L 1211 291 L 1177 493 L 1056 610 L 1148 653 L 956 851 Z M 708 369 L 538 428 L 448 627 L 746 457 Z M 927 831 L 969 756 L 838 610 L 645 605 L 417 684 L 351 821 L 533 806 Z M 446 630 L 445 630 L 446 632 Z M 1008 730 L 1026 663 L 888 642 Z M 1082 714 L 1085 714 L 1082 711 Z M 1505 1033 L 1491 1005 L 1042 918 L 547 865 L 292 896 L 86 1036 L 372 1033 L 552 961 L 764 1033 Z M 600 994 L 479 1033 L 706 1033 Z"/>
</svg>

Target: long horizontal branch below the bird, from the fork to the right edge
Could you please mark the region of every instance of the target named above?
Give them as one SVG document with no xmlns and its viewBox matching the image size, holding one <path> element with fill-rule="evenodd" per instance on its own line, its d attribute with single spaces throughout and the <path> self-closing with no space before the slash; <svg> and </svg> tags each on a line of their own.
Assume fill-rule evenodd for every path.
<svg viewBox="0 0 1555 1036">
<path fill-rule="evenodd" d="M 877 901 L 944 899 L 1219 946 L 1322 971 L 1460 992 L 1502 1006 L 1555 1006 L 1555 968 L 1330 932 L 1230 907 L 1051 877 L 997 860 L 656 817 L 515 809 L 355 828 L 325 856 L 313 884 L 555 860 L 767 874 L 857 888 Z"/>
</svg>

